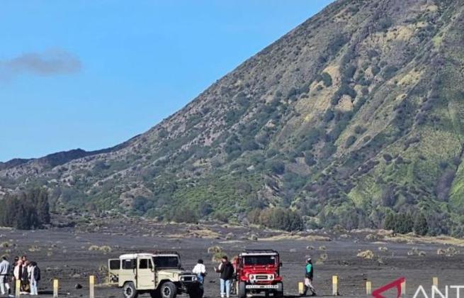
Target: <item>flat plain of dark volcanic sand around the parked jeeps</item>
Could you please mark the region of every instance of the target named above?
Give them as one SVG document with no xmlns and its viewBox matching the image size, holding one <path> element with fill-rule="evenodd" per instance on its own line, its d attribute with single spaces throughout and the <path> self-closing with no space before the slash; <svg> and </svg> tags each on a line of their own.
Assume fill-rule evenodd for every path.
<svg viewBox="0 0 464 298">
<path fill-rule="evenodd" d="M 245 233 L 243 228 L 227 230 L 216 226 L 216 231 L 223 235 L 220 238 L 169 238 L 166 235 L 177 233 L 179 229 L 189 231 L 185 226 L 158 227 L 152 235 L 137 233 L 127 226 L 109 226 L 98 228 L 97 232 L 77 231 L 74 228 L 61 228 L 40 231 L 0 230 L 0 242 L 14 243 L 9 248 L 1 248 L 2 254 L 14 255 L 26 253 L 30 260 L 38 262 L 42 270 L 42 280 L 39 286 L 40 297 L 52 297 L 52 278 L 60 280 L 60 297 L 89 297 L 89 275 L 96 275 L 96 282 L 104 283 L 106 275 L 99 272 L 101 266 L 107 264 L 108 258 L 118 258 L 121 253 L 153 250 L 178 250 L 181 253 L 183 267 L 190 270 L 198 258 L 205 260 L 209 275 L 205 280 L 205 297 L 218 297 L 219 282 L 213 272 L 212 255 L 208 247 L 220 245 L 228 255 L 239 253 L 243 248 L 273 248 L 281 253 L 283 261 L 282 275 L 284 277 L 285 295 L 295 296 L 298 292 L 298 282 L 302 280 L 305 258 L 311 255 L 317 260 L 319 255 L 327 253 L 324 263 L 315 265 L 314 285 L 319 296 L 332 294 L 332 275 L 339 276 L 339 293 L 344 297 L 364 297 L 366 280 L 373 282 L 373 287 L 384 285 L 398 277 L 407 279 L 407 297 L 412 297 L 419 284 L 427 289 L 431 286 L 431 278 L 439 277 L 441 285 L 464 285 L 462 269 L 463 255 L 446 257 L 437 255 L 437 249 L 443 245 L 407 244 L 407 243 L 374 243 L 365 241 L 365 234 L 352 233 L 339 236 L 336 233 L 325 234 L 332 241 L 278 240 L 278 241 L 248 241 L 239 240 Z M 162 230 L 161 230 L 162 228 Z M 126 232 L 118 231 L 123 229 Z M 109 233 L 114 230 L 115 233 Z M 154 231 L 154 230 L 153 230 Z M 234 232 L 232 240 L 226 241 L 225 235 Z M 259 231 L 259 230 L 256 230 Z M 263 232 L 261 232 L 263 235 Z M 266 235 L 268 236 L 268 235 Z M 230 236 L 228 238 L 231 238 Z M 111 253 L 89 250 L 90 245 L 109 245 Z M 311 245 L 315 249 L 308 250 Z M 325 246 L 325 250 L 319 249 Z M 386 252 L 378 248 L 386 247 Z M 425 256 L 409 256 L 413 247 L 423 250 Z M 358 250 L 370 249 L 375 253 L 373 260 L 357 258 Z M 378 255 L 382 262 L 379 263 Z M 76 285 L 83 286 L 76 289 Z M 454 290 L 453 290 L 454 291 Z M 120 289 L 98 286 L 96 297 L 122 297 Z M 455 292 L 453 292 L 455 295 Z M 26 296 L 27 297 L 27 296 Z M 143 295 L 141 297 L 149 297 Z M 387 296 L 389 297 L 389 296 Z M 452 296 L 454 297 L 454 296 Z"/>
</svg>

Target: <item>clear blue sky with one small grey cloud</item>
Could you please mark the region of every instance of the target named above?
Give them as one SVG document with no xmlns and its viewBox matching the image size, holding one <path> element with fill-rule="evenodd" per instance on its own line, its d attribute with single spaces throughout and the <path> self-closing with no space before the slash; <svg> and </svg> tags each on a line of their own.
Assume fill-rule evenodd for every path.
<svg viewBox="0 0 464 298">
<path fill-rule="evenodd" d="M 0 161 L 147 131 L 332 0 L 5 0 Z"/>
</svg>

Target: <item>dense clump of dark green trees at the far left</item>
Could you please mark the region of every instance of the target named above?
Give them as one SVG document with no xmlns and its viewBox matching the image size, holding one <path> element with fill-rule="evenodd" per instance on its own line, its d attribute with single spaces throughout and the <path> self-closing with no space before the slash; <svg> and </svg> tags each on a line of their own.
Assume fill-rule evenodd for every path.
<svg viewBox="0 0 464 298">
<path fill-rule="evenodd" d="M 50 205 L 45 189 L 28 189 L 9 195 L 0 202 L 0 226 L 30 230 L 49 223 Z"/>
</svg>

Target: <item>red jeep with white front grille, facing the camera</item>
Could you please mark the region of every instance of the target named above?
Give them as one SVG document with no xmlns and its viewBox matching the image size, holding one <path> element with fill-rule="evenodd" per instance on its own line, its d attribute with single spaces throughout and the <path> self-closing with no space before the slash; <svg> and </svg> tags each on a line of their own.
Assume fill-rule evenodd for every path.
<svg viewBox="0 0 464 298">
<path fill-rule="evenodd" d="M 237 260 L 239 298 L 264 292 L 283 297 L 281 260 L 276 250 L 245 250 Z"/>
</svg>

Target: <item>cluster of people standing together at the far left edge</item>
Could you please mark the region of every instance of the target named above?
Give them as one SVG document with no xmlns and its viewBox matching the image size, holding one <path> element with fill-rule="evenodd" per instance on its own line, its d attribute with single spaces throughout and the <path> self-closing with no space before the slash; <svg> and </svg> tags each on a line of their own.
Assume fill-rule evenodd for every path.
<svg viewBox="0 0 464 298">
<path fill-rule="evenodd" d="M 19 290 L 21 294 L 38 295 L 40 269 L 37 263 L 29 261 L 28 257 L 23 255 L 21 259 L 15 257 L 14 263 L 11 266 L 6 257 L 2 257 L 0 262 L 1 294 L 11 294 L 11 289 L 15 289 L 16 280 L 20 281 Z"/>
</svg>

